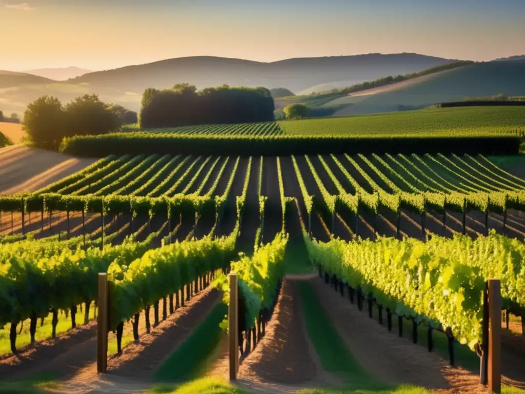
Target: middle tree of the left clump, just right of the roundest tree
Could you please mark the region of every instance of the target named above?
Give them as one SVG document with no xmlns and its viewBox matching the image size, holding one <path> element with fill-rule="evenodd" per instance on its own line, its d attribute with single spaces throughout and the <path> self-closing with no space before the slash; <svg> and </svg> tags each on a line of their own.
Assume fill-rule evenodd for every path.
<svg viewBox="0 0 525 394">
<path fill-rule="evenodd" d="M 77 97 L 66 105 L 64 137 L 107 134 L 120 127 L 119 115 L 99 100 L 97 95 Z"/>
</svg>

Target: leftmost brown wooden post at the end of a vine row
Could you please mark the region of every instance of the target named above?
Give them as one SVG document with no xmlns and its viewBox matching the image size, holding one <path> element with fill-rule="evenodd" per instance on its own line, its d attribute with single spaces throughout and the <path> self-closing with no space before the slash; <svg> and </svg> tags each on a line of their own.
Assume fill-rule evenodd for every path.
<svg viewBox="0 0 525 394">
<path fill-rule="evenodd" d="M 98 317 L 97 317 L 97 372 L 102 374 L 108 368 L 108 274 L 98 275 Z"/>
</svg>

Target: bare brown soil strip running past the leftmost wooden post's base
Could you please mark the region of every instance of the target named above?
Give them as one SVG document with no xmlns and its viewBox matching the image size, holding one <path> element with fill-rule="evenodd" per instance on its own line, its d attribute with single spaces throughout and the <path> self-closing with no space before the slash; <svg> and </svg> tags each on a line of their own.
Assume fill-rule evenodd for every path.
<svg viewBox="0 0 525 394">
<path fill-rule="evenodd" d="M 138 344 L 130 343 L 121 355 L 108 358 L 107 374 L 97 375 L 96 322 L 67 333 L 57 343 L 40 344 L 29 349 L 25 363 L 16 364 L 17 357 L 0 364 L 3 376 L 24 379 L 37 374 L 59 376 L 62 384 L 57 392 L 143 392 L 151 386 L 154 370 L 180 346 L 188 335 L 220 302 L 220 293 L 211 287 L 204 289 L 162 320 L 162 302 L 159 303 L 160 324 L 153 328 L 153 307 L 150 309 L 152 329 L 145 333 L 144 313 L 141 313 Z M 132 330 L 124 325 L 124 336 Z M 110 341 L 113 334 L 110 333 Z M 49 345 L 44 347 L 45 345 Z M 13 365 L 14 364 L 14 365 Z"/>
</svg>

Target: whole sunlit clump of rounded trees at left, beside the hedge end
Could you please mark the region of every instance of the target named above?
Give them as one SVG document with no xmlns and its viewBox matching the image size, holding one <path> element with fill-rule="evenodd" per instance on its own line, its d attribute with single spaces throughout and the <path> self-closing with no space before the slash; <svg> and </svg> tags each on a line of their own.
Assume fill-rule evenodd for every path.
<svg viewBox="0 0 525 394">
<path fill-rule="evenodd" d="M 98 95 L 77 97 L 63 105 L 53 96 L 41 96 L 24 112 L 24 130 L 30 145 L 58 150 L 65 137 L 106 134 L 137 123 L 137 113 L 100 101 Z"/>
</svg>

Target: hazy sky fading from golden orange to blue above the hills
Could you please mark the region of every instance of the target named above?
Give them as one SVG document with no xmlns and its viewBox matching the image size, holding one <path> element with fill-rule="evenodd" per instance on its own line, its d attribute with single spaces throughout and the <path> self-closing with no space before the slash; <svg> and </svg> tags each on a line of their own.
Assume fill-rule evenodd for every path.
<svg viewBox="0 0 525 394">
<path fill-rule="evenodd" d="M 525 0 L 0 0 L 0 69 L 173 57 L 525 54 Z"/>
</svg>

